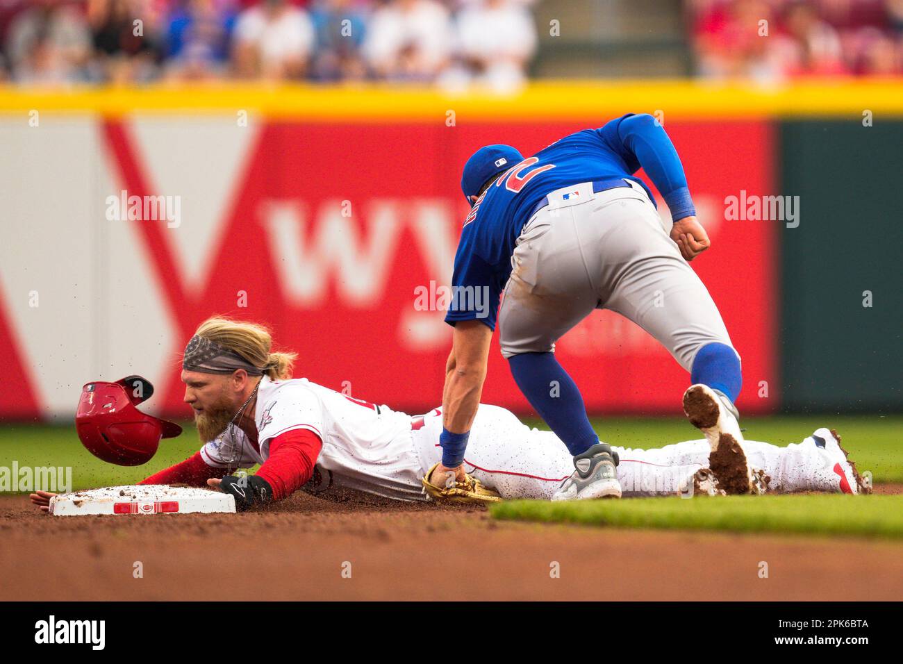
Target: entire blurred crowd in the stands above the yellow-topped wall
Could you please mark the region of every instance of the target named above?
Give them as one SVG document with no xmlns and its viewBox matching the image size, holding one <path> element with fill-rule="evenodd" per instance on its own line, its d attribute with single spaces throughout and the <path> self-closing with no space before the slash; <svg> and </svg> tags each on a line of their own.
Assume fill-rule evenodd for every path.
<svg viewBox="0 0 903 664">
<path fill-rule="evenodd" d="M 535 56 L 536 2 L 0 0 L 0 82 L 390 80 L 515 89 Z M 903 74 L 903 0 L 684 7 L 699 76 Z"/>
</svg>

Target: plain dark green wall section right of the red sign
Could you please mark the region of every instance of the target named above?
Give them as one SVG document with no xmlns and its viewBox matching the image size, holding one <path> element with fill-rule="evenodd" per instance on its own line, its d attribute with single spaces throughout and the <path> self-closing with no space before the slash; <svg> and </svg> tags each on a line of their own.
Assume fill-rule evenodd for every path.
<svg viewBox="0 0 903 664">
<path fill-rule="evenodd" d="M 903 121 L 780 124 L 784 407 L 903 410 Z"/>
</svg>

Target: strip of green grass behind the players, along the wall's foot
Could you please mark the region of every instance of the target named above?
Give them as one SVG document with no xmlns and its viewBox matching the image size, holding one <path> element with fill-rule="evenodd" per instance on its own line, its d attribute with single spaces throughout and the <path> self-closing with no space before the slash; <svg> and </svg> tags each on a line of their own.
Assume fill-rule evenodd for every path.
<svg viewBox="0 0 903 664">
<path fill-rule="evenodd" d="M 144 479 L 200 449 L 196 429 L 160 442 L 142 466 L 115 466 L 88 454 L 72 426 L 0 425 L 0 466 L 71 466 L 73 490 L 127 484 Z M 538 426 L 535 422 L 531 425 Z M 661 447 L 700 437 L 681 417 L 600 417 L 593 425 L 603 440 L 627 447 Z M 836 428 L 861 471 L 873 481 L 903 482 L 903 416 L 772 416 L 743 419 L 746 435 L 768 443 L 798 443 L 819 426 Z M 691 501 L 693 502 L 693 501 Z"/>
</svg>

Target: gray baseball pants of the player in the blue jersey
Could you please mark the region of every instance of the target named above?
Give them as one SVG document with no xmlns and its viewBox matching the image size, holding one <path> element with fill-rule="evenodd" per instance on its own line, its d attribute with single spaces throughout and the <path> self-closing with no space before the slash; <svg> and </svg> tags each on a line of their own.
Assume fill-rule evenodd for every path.
<svg viewBox="0 0 903 664">
<path fill-rule="evenodd" d="M 647 193 L 625 182 L 630 189 L 593 193 L 584 182 L 553 192 L 527 221 L 498 313 L 504 357 L 554 351 L 593 309 L 637 323 L 688 371 L 704 345 L 732 347 L 712 296 Z"/>
</svg>

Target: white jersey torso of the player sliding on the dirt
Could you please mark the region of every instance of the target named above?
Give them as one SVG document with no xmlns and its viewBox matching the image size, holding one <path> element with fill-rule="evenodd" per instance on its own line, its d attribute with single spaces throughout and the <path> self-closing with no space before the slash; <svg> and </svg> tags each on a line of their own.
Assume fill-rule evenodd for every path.
<svg viewBox="0 0 903 664">
<path fill-rule="evenodd" d="M 295 429 L 320 436 L 322 449 L 304 489 L 330 487 L 367 491 L 391 498 L 424 500 L 424 462 L 411 440 L 411 417 L 362 401 L 308 379 L 264 377 L 254 409 L 257 444 L 237 427 L 200 454 L 211 466 L 249 468 L 269 457 L 270 441 Z"/>
</svg>

